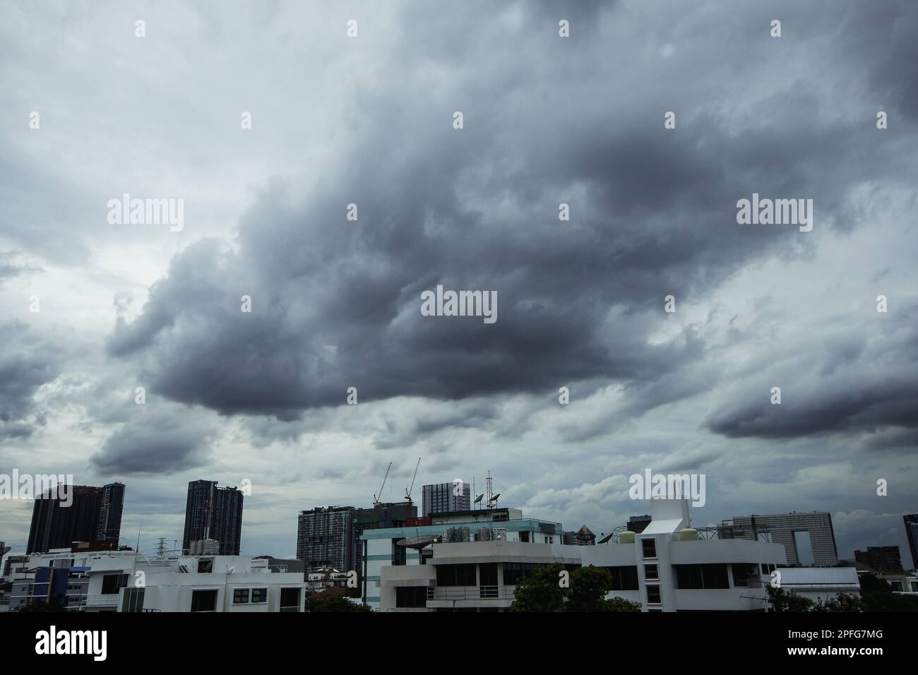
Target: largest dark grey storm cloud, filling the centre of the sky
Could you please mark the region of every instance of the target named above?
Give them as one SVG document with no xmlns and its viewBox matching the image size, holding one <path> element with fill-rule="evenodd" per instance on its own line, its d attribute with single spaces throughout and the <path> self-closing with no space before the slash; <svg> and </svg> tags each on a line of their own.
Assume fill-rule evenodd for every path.
<svg viewBox="0 0 918 675">
<path fill-rule="evenodd" d="M 650 385 L 699 358 L 705 343 L 691 332 L 648 343 L 666 319 L 664 296 L 704 298 L 752 261 L 812 245 L 796 228 L 738 226 L 738 198 L 812 197 L 818 230 L 850 230 L 849 190 L 906 181 L 903 169 L 913 169 L 891 137 L 877 141 L 872 112 L 828 107 L 819 73 L 793 73 L 754 118 L 727 119 L 713 99 L 756 94 L 751 65 L 770 64 L 757 73 L 769 82 L 788 74 L 765 39 L 750 43 L 754 28 L 730 31 L 739 19 L 729 12 L 722 50 L 693 51 L 690 36 L 678 44 L 697 63 L 631 54 L 628 68 L 644 77 L 626 92 L 617 88 L 625 54 L 600 30 L 566 43 L 556 32 L 529 37 L 530 15 L 509 34 L 487 13 L 463 30 L 432 8 L 418 12 L 425 30 L 386 55 L 391 82 L 354 93 L 362 125 L 341 166 L 308 193 L 270 187 L 242 219 L 238 251 L 196 243 L 151 287 L 140 317 L 119 321 L 109 352 L 137 359 L 154 390 L 288 420 L 341 404 L 352 386 L 361 400 L 464 399 L 605 377 L 640 380 L 648 404 L 668 400 Z M 787 24 L 791 6 L 785 15 Z M 871 17 L 823 14 L 843 33 Z M 457 38 L 468 34 L 484 55 Z M 891 49 L 905 49 L 907 35 L 887 34 Z M 823 49 L 838 67 L 853 58 L 844 40 Z M 856 57 L 875 70 L 884 58 Z M 431 62 L 445 80 L 421 74 Z M 874 92 L 862 95 L 874 104 Z M 669 132 L 662 114 L 673 101 L 682 117 Z M 456 109 L 461 131 L 451 127 Z M 344 219 L 352 202 L 357 222 Z M 558 221 L 560 202 L 571 205 L 570 222 Z M 420 293 L 437 284 L 496 290 L 497 323 L 422 317 Z M 252 296 L 251 314 L 240 311 L 242 295 Z M 889 389 L 914 392 L 907 383 Z M 869 417 L 856 409 L 882 407 L 885 390 L 839 400 L 839 410 Z M 828 410 L 812 411 L 826 418 L 815 428 L 832 428 Z M 803 411 L 789 422 L 768 410 L 740 419 L 750 411 L 722 412 L 711 429 L 780 436 L 810 427 Z"/>
</svg>

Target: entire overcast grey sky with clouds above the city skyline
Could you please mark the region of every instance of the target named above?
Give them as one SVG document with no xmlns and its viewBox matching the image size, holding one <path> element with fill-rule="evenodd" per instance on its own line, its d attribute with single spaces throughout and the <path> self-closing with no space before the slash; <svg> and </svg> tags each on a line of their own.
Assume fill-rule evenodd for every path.
<svg viewBox="0 0 918 675">
<path fill-rule="evenodd" d="M 490 470 L 597 534 L 647 512 L 632 474 L 701 473 L 696 525 L 828 511 L 840 557 L 909 565 L 913 0 L 0 14 L 0 472 L 123 481 L 147 551 L 188 480 L 247 478 L 242 553 L 279 557 L 390 461 L 386 500 L 421 457 L 419 504 Z M 184 228 L 111 224 L 125 193 Z M 812 198 L 812 231 L 737 224 L 753 193 Z M 421 316 L 438 284 L 498 321 Z M 14 551 L 31 510 L 0 501 Z"/>
</svg>

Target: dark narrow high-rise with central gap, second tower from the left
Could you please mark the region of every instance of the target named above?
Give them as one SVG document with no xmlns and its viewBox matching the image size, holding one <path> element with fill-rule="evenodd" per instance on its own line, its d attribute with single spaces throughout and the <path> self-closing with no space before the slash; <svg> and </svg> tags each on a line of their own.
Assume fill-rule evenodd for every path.
<svg viewBox="0 0 918 675">
<path fill-rule="evenodd" d="M 216 480 L 192 480 L 185 501 L 185 534 L 182 548 L 192 542 L 214 539 L 220 556 L 238 556 L 242 539 L 242 491 L 218 488 Z"/>
</svg>

